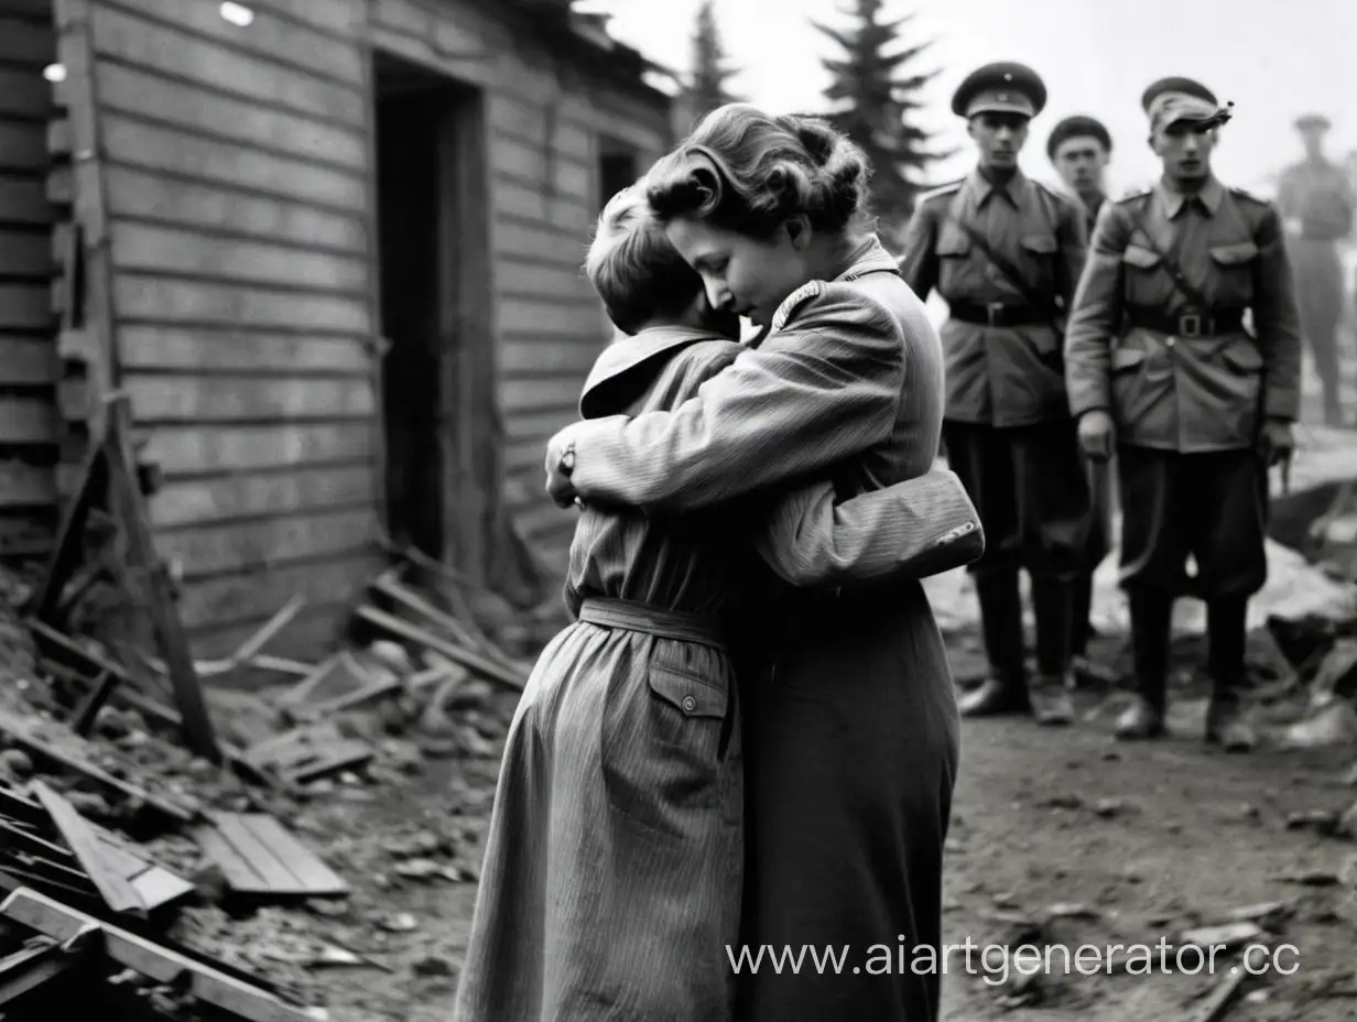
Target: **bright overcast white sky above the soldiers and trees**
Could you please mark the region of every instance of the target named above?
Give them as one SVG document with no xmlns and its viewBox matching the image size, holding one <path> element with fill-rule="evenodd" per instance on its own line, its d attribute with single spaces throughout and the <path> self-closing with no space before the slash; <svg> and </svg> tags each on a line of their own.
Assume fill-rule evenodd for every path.
<svg viewBox="0 0 1357 1022">
<path fill-rule="evenodd" d="M 821 109 L 820 57 L 835 45 L 810 19 L 844 23 L 851 0 L 716 0 L 731 88 L 775 111 Z M 613 15 L 609 31 L 653 60 L 687 71 L 699 0 L 578 0 Z M 778 10 L 778 15 L 771 12 Z M 1166 75 L 1190 75 L 1235 100 L 1216 168 L 1227 183 L 1265 187 L 1299 157 L 1291 122 L 1320 110 L 1334 121 L 1330 153 L 1357 148 L 1357 0 L 887 0 L 916 14 L 915 38 L 935 39 L 920 67 L 940 73 L 924 96 L 921 126 L 940 149 L 963 147 L 953 90 L 992 60 L 1030 64 L 1050 92 L 1033 124 L 1025 168 L 1050 176 L 1045 141 L 1061 117 L 1088 113 L 1114 137 L 1113 190 L 1156 174 L 1140 94 Z M 1343 109 L 1346 106 L 1346 109 Z M 968 170 L 969 151 L 938 164 L 940 181 Z"/>
</svg>

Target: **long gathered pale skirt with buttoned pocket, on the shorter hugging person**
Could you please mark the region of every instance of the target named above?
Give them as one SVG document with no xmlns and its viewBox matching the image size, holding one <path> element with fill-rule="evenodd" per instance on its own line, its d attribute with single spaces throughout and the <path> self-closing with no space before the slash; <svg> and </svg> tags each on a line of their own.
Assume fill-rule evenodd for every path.
<svg viewBox="0 0 1357 1022">
<path fill-rule="evenodd" d="M 722 1022 L 742 755 L 725 649 L 616 600 L 543 651 L 509 730 L 455 1022 Z"/>
</svg>

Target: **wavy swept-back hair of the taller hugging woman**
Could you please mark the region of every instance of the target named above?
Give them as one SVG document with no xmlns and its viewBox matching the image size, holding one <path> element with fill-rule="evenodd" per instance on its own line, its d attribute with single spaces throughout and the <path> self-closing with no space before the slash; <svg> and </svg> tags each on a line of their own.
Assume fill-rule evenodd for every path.
<svg viewBox="0 0 1357 1022">
<path fill-rule="evenodd" d="M 840 233 L 870 225 L 870 176 L 866 153 L 828 121 L 727 103 L 655 163 L 646 198 L 661 221 L 692 217 L 760 240 L 795 216 Z"/>
</svg>

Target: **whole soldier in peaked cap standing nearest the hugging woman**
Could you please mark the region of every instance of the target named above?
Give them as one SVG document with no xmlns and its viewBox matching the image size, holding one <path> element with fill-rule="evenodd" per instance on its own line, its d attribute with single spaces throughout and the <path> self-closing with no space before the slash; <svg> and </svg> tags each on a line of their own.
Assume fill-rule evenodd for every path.
<svg viewBox="0 0 1357 1022">
<path fill-rule="evenodd" d="M 920 297 L 938 289 L 947 404 L 943 440 L 985 525 L 970 566 L 989 676 L 961 700 L 966 715 L 1031 711 L 1069 723 L 1075 588 L 1087 569 L 1088 482 L 1069 415 L 1063 318 L 1083 271 L 1084 214 L 1018 167 L 1046 103 L 1022 64 L 991 64 L 953 98 L 980 152 L 965 179 L 921 197 L 900 270 Z M 1037 677 L 1025 665 L 1018 571 L 1031 577 Z"/>
</svg>

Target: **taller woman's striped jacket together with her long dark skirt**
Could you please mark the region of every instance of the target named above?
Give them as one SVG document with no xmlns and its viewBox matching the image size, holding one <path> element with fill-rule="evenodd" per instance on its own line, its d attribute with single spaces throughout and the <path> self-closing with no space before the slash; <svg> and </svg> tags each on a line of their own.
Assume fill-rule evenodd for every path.
<svg viewBox="0 0 1357 1022">
<path fill-rule="evenodd" d="M 841 278 L 788 299 L 772 327 L 674 411 L 584 423 L 577 491 L 693 513 L 806 474 L 828 472 L 848 495 L 928 470 L 942 352 L 875 240 Z M 928 600 L 902 581 L 773 611 L 778 631 L 746 643 L 741 943 L 851 945 L 863 966 L 871 945 L 938 947 L 959 727 Z M 938 974 L 765 964 L 740 979 L 741 1018 L 757 1022 L 938 1017 Z"/>
</svg>

